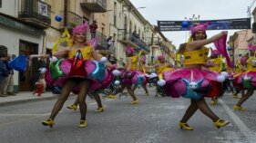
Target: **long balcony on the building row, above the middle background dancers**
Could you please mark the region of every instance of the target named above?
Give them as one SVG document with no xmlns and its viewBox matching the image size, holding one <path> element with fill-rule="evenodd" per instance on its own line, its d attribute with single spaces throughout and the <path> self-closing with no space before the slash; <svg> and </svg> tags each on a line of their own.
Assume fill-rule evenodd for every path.
<svg viewBox="0 0 256 143">
<path fill-rule="evenodd" d="M 143 52 L 146 52 L 146 53 L 150 52 L 150 48 L 149 48 L 148 44 L 145 43 L 143 40 L 141 40 L 138 36 L 136 36 L 132 33 L 126 33 L 120 38 L 121 39 L 118 39 L 118 40 L 120 40 L 120 42 L 122 42 L 122 43 L 130 44 L 133 47 L 141 47 Z M 135 48 L 135 49 L 137 49 L 137 48 Z"/>
</svg>

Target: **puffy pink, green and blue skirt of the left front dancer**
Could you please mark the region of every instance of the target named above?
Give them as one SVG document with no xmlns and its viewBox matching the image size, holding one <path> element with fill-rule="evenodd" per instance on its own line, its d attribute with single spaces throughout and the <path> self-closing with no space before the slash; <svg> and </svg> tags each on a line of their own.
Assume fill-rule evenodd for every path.
<svg viewBox="0 0 256 143">
<path fill-rule="evenodd" d="M 84 61 L 84 70 L 86 74 L 69 76 L 72 60 L 61 59 L 51 63 L 46 71 L 46 82 L 49 86 L 62 87 L 64 83 L 71 78 L 87 79 L 91 81 L 89 91 L 97 91 L 107 88 L 113 81 L 112 71 L 108 70 L 104 63 L 97 61 Z M 78 86 L 73 88 L 73 92 L 79 91 Z"/>
</svg>

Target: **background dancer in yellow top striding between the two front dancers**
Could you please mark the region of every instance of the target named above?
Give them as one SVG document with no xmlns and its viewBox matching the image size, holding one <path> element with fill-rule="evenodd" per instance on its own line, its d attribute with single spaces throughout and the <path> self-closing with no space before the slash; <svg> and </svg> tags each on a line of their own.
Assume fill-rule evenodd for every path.
<svg viewBox="0 0 256 143">
<path fill-rule="evenodd" d="M 138 56 L 135 55 L 134 48 L 128 45 L 126 47 L 126 54 L 127 54 L 127 62 L 126 62 L 125 69 L 121 70 L 121 75 L 120 75 L 121 88 L 119 91 L 123 91 L 125 88 L 127 88 L 129 95 L 133 99 L 133 101 L 131 101 L 131 104 L 138 104 L 138 98 L 134 94 L 134 91 L 131 89 L 131 86 L 132 84 L 145 83 L 146 78 L 144 77 L 142 72 L 137 71 Z M 114 93 L 108 95 L 108 98 L 114 99 L 116 94 L 118 94 L 119 91 L 115 91 Z"/>
</svg>

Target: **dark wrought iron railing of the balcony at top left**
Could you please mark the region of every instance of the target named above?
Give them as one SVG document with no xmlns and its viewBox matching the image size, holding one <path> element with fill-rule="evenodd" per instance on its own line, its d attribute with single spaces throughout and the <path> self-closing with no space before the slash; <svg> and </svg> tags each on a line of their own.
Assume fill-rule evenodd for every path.
<svg viewBox="0 0 256 143">
<path fill-rule="evenodd" d="M 40 0 L 20 0 L 19 18 L 33 18 L 45 24 L 51 24 L 51 5 Z"/>
</svg>

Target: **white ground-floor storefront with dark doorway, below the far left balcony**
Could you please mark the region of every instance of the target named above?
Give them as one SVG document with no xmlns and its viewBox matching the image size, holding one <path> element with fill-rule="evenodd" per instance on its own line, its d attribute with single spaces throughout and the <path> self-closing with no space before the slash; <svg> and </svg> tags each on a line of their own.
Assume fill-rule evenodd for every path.
<svg viewBox="0 0 256 143">
<path fill-rule="evenodd" d="M 0 14 L 0 44 L 8 49 L 13 58 L 20 54 L 42 53 L 45 32 L 24 23 L 18 18 Z M 25 72 L 15 71 L 15 91 L 33 91 L 36 80 L 36 60 Z"/>
</svg>

